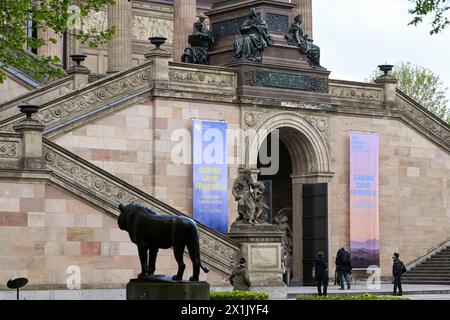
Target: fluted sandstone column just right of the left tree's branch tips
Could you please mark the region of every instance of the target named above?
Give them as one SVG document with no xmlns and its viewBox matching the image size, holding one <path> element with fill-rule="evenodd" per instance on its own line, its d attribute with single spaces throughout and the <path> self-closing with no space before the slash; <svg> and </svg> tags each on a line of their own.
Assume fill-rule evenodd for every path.
<svg viewBox="0 0 450 320">
<path fill-rule="evenodd" d="M 108 41 L 108 73 L 123 71 L 132 66 L 131 52 L 131 1 L 116 0 L 108 6 L 108 27 L 115 27 Z"/>
</svg>

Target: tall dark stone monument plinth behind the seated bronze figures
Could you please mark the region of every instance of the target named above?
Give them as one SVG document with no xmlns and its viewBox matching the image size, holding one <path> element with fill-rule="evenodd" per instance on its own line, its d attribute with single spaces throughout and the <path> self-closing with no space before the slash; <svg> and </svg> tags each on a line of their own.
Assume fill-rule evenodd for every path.
<svg viewBox="0 0 450 320">
<path fill-rule="evenodd" d="M 206 13 L 215 37 L 209 63 L 237 71 L 237 92 L 243 97 L 241 101 L 266 97 L 282 101 L 284 106 L 331 104 L 330 72 L 311 64 L 310 58 L 286 38 L 297 12 L 295 8 L 293 3 L 284 0 L 220 1 Z M 234 57 L 234 44 L 242 37 L 240 27 L 248 18 L 250 9 L 256 9 L 267 23 L 272 38 L 261 62 L 236 60 Z M 316 45 L 320 46 L 320 43 Z"/>
</svg>

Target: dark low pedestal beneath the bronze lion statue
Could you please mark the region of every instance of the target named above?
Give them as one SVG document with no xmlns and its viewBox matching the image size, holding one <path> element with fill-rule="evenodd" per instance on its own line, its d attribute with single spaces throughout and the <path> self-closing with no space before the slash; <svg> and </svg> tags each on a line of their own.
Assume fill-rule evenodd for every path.
<svg viewBox="0 0 450 320">
<path fill-rule="evenodd" d="M 127 300 L 209 300 L 209 292 L 205 281 L 172 281 L 166 276 L 131 279 L 127 284 Z"/>
</svg>

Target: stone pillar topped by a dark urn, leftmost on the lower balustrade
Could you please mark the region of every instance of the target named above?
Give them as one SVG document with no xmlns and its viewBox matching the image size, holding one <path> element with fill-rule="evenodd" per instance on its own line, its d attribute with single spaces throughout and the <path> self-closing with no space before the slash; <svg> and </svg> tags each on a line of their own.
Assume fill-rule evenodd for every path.
<svg viewBox="0 0 450 320">
<path fill-rule="evenodd" d="M 13 128 L 21 133 L 21 159 L 20 166 L 24 169 L 44 169 L 45 161 L 42 157 L 42 132 L 45 126 L 31 117 L 39 109 L 35 105 L 22 105 L 19 109 L 27 115 Z"/>
</svg>

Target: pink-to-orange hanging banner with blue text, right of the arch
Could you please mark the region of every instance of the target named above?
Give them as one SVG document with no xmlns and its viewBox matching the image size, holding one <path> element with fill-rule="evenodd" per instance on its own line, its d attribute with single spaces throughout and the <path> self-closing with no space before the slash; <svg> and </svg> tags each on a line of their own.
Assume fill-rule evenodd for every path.
<svg viewBox="0 0 450 320">
<path fill-rule="evenodd" d="M 380 265 L 379 137 L 350 133 L 350 251 L 353 268 Z"/>
</svg>

